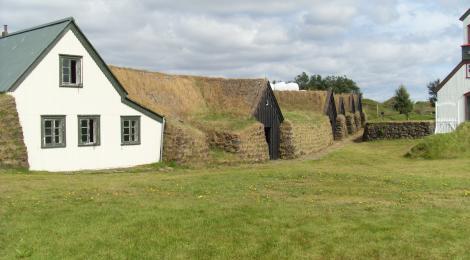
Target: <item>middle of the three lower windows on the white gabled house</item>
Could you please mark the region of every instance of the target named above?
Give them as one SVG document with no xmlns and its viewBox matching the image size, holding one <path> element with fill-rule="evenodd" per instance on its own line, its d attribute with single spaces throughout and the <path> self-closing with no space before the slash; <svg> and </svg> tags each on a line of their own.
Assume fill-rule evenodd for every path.
<svg viewBox="0 0 470 260">
<path fill-rule="evenodd" d="M 100 145 L 100 116 L 78 116 L 78 146 Z"/>
</svg>

